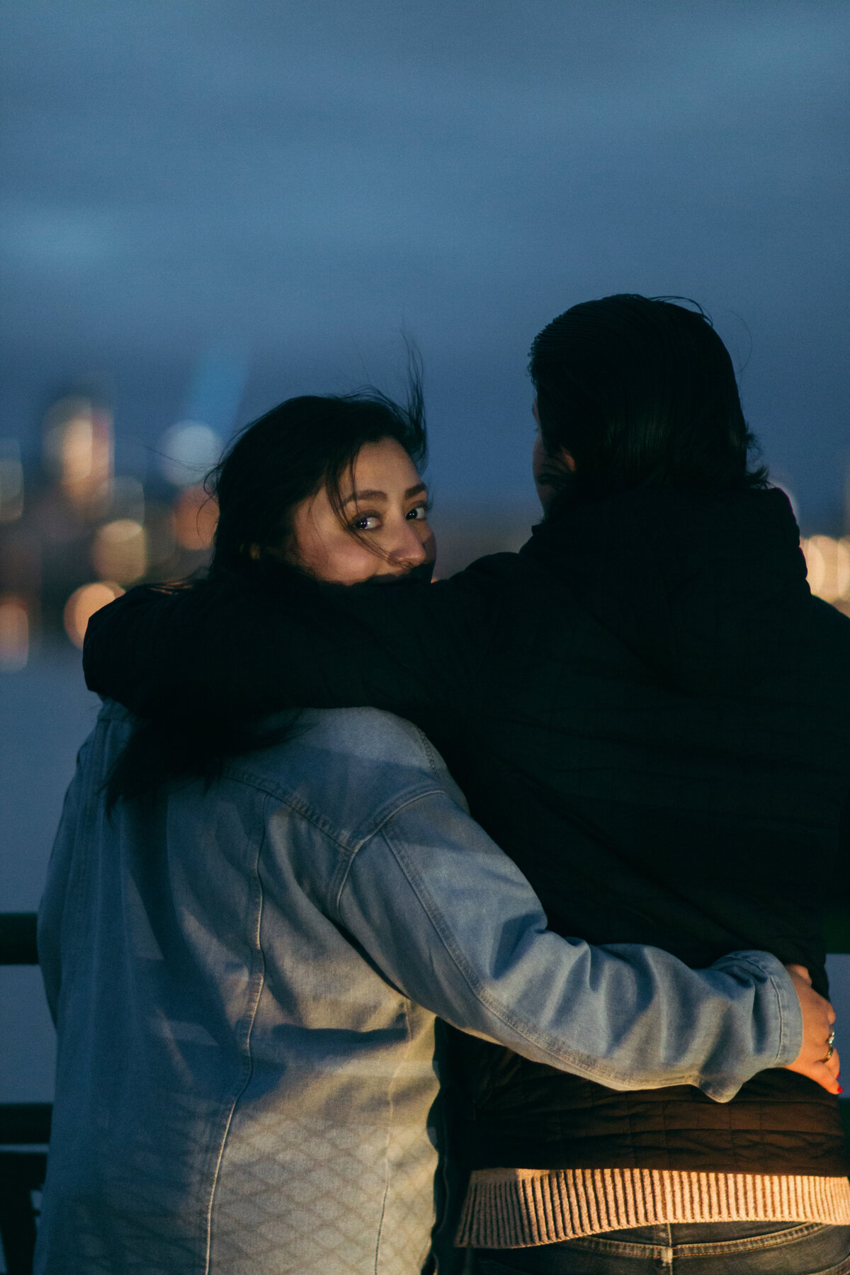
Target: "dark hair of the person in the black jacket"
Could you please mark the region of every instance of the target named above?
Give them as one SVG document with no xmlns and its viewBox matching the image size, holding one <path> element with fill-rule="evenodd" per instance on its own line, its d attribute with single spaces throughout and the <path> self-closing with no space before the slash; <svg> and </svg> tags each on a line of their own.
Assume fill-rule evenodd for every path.
<svg viewBox="0 0 850 1275">
<path fill-rule="evenodd" d="M 529 374 L 556 488 L 604 496 L 766 484 L 763 467 L 748 468 L 756 440 L 729 352 L 709 316 L 681 300 L 585 301 L 534 338 Z M 558 465 L 563 450 L 575 474 Z"/>
</svg>

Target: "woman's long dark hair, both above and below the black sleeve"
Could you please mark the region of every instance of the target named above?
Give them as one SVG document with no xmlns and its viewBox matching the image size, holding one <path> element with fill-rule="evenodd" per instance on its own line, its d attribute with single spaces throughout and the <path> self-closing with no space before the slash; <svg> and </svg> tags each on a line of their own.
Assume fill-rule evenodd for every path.
<svg viewBox="0 0 850 1275">
<path fill-rule="evenodd" d="M 249 584 L 266 570 L 285 571 L 279 556 L 292 548 L 297 506 L 324 487 L 344 521 L 342 483 L 361 448 L 384 439 L 399 442 L 418 468 L 424 465 L 422 377 L 414 357 L 404 405 L 370 386 L 287 399 L 247 425 L 208 476 L 206 490 L 219 506 L 213 560 L 206 576 L 187 586 L 203 592 L 210 581 Z M 296 718 L 266 728 L 210 704 L 203 722 L 141 722 L 110 775 L 107 810 L 122 797 L 152 796 L 169 780 L 212 783 L 228 756 L 279 742 Z"/>
</svg>

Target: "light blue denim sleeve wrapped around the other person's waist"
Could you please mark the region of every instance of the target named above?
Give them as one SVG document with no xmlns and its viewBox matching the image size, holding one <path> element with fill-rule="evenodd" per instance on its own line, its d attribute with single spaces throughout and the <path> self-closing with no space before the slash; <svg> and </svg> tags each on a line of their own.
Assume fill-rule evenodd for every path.
<svg viewBox="0 0 850 1275">
<path fill-rule="evenodd" d="M 733 952 L 692 970 L 655 947 L 561 938 L 446 793 L 410 801 L 361 845 L 335 905 L 412 1000 L 610 1089 L 688 1084 L 729 1102 L 800 1047 L 796 993 L 774 956 Z"/>
</svg>

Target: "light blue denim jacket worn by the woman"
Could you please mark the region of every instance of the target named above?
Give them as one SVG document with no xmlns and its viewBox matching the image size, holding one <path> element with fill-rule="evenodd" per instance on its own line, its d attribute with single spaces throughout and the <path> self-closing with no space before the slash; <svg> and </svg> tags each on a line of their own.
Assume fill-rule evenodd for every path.
<svg viewBox="0 0 850 1275">
<path fill-rule="evenodd" d="M 45 1275 L 417 1275 L 435 1015 L 612 1088 L 725 1100 L 791 1061 L 781 965 L 547 931 L 440 756 L 373 709 L 120 803 L 83 746 L 38 945 L 59 1034 Z"/>
</svg>

